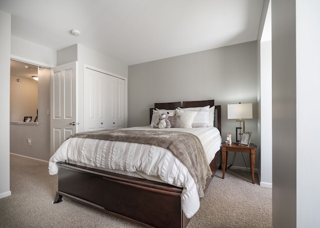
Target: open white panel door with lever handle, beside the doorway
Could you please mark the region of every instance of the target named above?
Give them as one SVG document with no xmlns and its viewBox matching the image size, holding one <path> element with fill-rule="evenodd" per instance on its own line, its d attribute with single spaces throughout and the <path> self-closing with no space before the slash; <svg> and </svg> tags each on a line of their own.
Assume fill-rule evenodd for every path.
<svg viewBox="0 0 320 228">
<path fill-rule="evenodd" d="M 76 61 L 51 68 L 51 155 L 68 136 L 77 132 L 76 75 Z"/>
</svg>

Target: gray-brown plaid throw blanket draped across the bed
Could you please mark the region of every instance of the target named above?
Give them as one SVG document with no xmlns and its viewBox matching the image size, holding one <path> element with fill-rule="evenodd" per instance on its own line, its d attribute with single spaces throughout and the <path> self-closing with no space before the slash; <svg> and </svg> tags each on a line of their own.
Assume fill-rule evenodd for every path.
<svg viewBox="0 0 320 228">
<path fill-rule="evenodd" d="M 72 137 L 139 143 L 168 149 L 189 171 L 197 186 L 199 197 L 204 195 L 206 178 L 212 175 L 200 140 L 190 133 L 118 129 L 80 132 L 70 136 Z"/>
</svg>

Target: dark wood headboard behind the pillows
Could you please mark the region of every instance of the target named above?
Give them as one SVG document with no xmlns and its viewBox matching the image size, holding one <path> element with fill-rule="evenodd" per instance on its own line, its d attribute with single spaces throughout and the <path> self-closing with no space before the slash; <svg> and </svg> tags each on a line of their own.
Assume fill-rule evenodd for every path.
<svg viewBox="0 0 320 228">
<path fill-rule="evenodd" d="M 182 106 L 181 102 L 169 102 L 169 103 L 154 103 L 154 108 L 157 109 L 167 109 L 173 110 L 177 107 L 182 108 L 193 108 L 193 107 L 204 107 L 210 105 L 214 106 L 214 126 L 220 131 L 221 134 L 221 105 L 214 105 L 214 100 L 204 100 L 204 101 L 183 101 Z M 150 108 L 150 122 L 152 119 L 152 109 Z"/>
</svg>

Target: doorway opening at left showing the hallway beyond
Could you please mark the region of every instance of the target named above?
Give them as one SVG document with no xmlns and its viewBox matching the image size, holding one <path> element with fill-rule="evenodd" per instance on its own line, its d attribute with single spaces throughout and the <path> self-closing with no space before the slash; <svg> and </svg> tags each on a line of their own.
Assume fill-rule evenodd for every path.
<svg viewBox="0 0 320 228">
<path fill-rule="evenodd" d="M 33 76 L 33 77 L 32 77 Z M 35 76 L 38 78 L 36 81 Z M 48 161 L 50 69 L 10 62 L 10 153 Z"/>
</svg>

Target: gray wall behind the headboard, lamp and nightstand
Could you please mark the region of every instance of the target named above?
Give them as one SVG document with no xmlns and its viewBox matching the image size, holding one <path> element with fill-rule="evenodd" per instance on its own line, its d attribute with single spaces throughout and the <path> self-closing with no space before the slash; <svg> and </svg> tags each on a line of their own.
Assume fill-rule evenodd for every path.
<svg viewBox="0 0 320 228">
<path fill-rule="evenodd" d="M 148 125 L 155 102 L 214 99 L 221 105 L 223 140 L 228 132 L 235 139 L 238 123 L 227 120 L 227 104 L 250 102 L 253 119 L 245 121 L 245 129 L 257 142 L 256 53 L 252 41 L 129 66 L 128 126 Z M 236 158 L 234 165 L 245 167 L 242 157 Z M 248 156 L 245 159 L 248 166 Z"/>
</svg>

